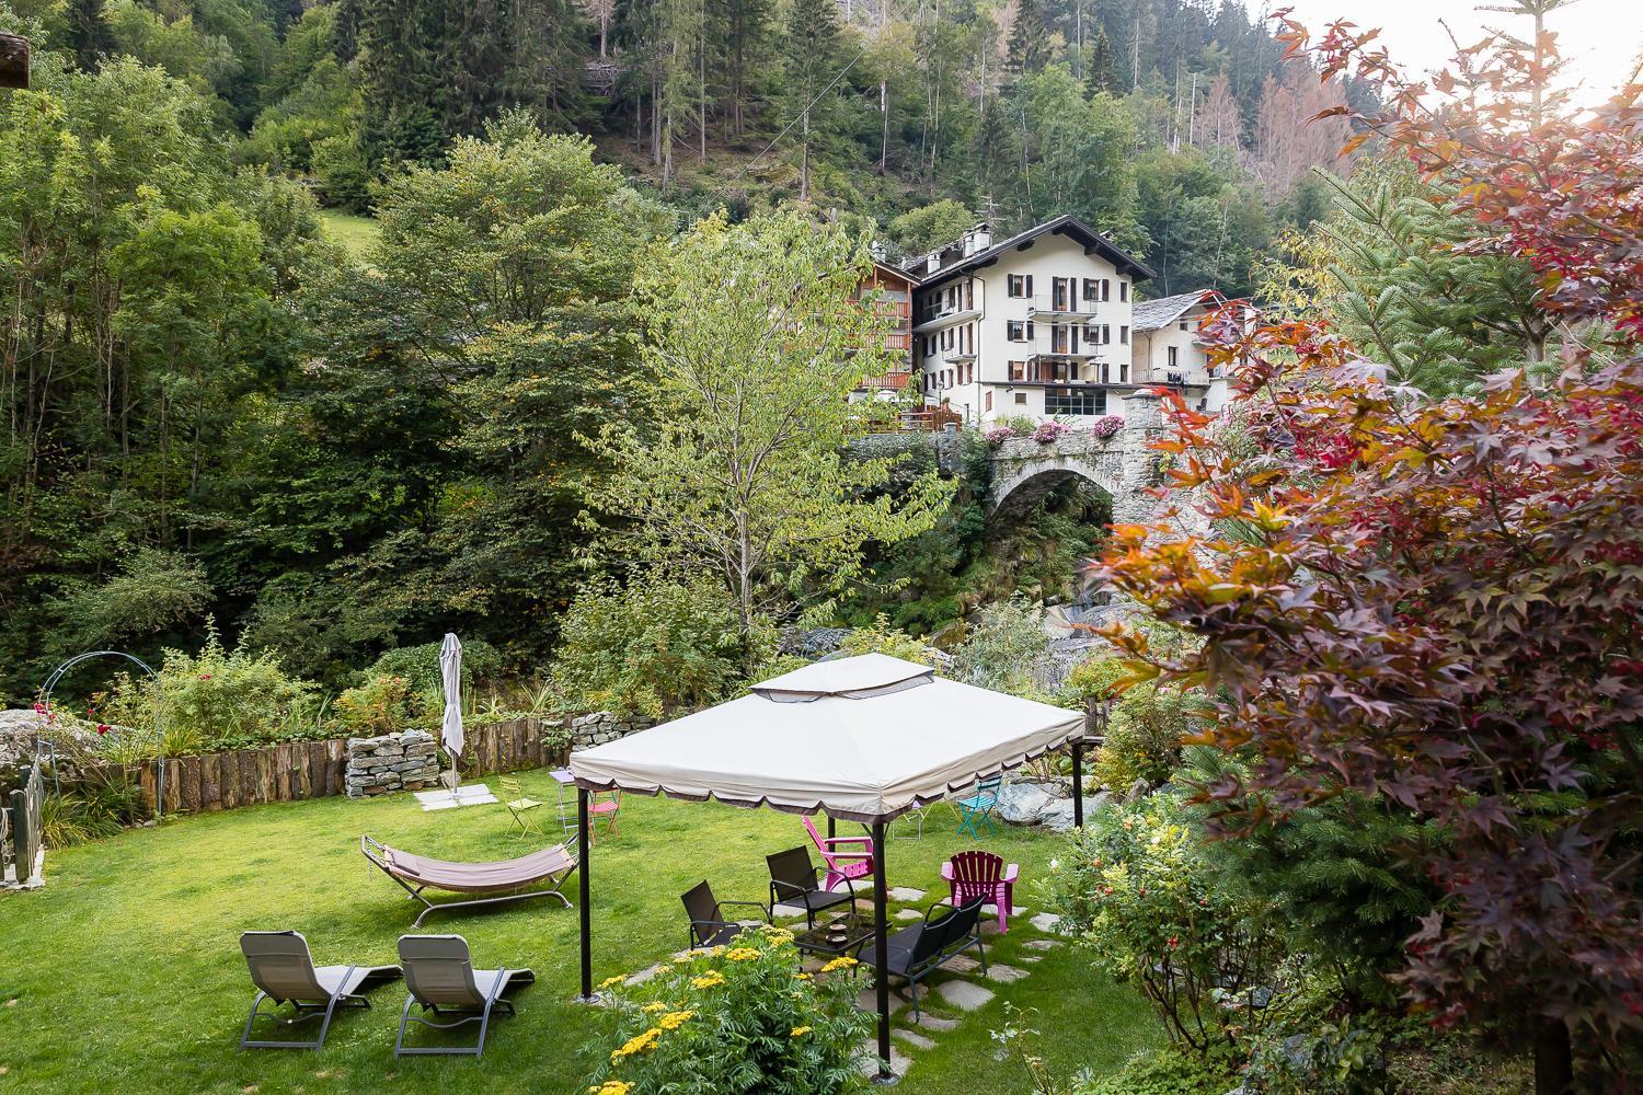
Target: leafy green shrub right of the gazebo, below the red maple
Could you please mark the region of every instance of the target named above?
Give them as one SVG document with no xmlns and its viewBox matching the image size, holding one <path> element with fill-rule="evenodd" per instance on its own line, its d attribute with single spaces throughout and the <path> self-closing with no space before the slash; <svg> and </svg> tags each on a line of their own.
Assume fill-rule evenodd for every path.
<svg viewBox="0 0 1643 1095">
<path fill-rule="evenodd" d="M 1280 1011 L 1283 960 L 1270 909 L 1217 888 L 1201 842 L 1180 796 L 1157 793 L 1096 811 L 1050 870 L 1065 928 L 1199 1052 Z"/>
</svg>

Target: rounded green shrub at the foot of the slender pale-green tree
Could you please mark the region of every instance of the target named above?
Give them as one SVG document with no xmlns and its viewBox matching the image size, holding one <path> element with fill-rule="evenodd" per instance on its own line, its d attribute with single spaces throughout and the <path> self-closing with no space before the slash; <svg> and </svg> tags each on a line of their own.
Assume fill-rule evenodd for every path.
<svg viewBox="0 0 1643 1095">
<path fill-rule="evenodd" d="M 582 589 L 550 676 L 570 709 L 656 719 L 725 698 L 743 680 L 746 653 L 720 586 L 647 575 Z"/>
</svg>

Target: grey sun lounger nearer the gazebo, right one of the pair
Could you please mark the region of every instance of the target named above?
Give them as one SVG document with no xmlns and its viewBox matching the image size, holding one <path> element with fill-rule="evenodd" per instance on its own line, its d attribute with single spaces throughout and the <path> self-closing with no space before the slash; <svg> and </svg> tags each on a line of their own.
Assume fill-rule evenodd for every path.
<svg viewBox="0 0 1643 1095">
<path fill-rule="evenodd" d="M 514 1013 L 511 1000 L 503 993 L 514 985 L 536 980 L 531 970 L 476 970 L 468 954 L 468 941 L 462 936 L 401 936 L 399 960 L 406 969 L 404 1011 L 399 1013 L 399 1036 L 394 1039 L 394 1056 L 409 1054 L 470 1054 L 485 1052 L 485 1034 L 491 1024 L 491 1010 Z M 452 1023 L 435 1023 L 422 1015 L 411 1015 L 411 1005 L 432 1011 L 439 1018 L 458 1015 Z M 455 1029 L 465 1023 L 480 1024 L 480 1041 L 473 1046 L 406 1046 L 406 1028 L 421 1023 L 437 1031 Z"/>
</svg>

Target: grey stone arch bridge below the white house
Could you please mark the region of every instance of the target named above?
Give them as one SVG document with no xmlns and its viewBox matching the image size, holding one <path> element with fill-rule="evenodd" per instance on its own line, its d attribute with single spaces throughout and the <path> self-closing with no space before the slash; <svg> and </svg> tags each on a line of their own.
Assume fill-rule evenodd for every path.
<svg viewBox="0 0 1643 1095">
<path fill-rule="evenodd" d="M 1124 428 L 1098 438 L 1088 428 L 1050 443 L 1012 437 L 992 453 L 992 512 L 1025 512 L 1068 479 L 1086 479 L 1112 496 L 1114 524 L 1145 524 L 1160 501 L 1158 453 L 1147 448 L 1163 430 L 1158 397 L 1124 397 Z"/>
</svg>

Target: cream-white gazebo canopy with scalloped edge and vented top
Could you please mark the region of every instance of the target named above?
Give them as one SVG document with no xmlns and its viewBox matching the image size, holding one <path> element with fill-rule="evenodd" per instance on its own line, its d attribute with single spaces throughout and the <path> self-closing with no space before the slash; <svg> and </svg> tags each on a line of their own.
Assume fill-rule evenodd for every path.
<svg viewBox="0 0 1643 1095">
<path fill-rule="evenodd" d="M 1078 711 L 868 653 L 570 757 L 585 790 L 639 791 L 881 822 L 1083 734 Z"/>
</svg>

